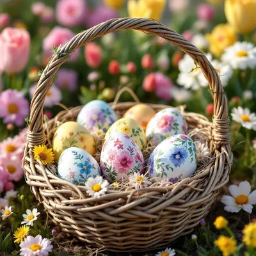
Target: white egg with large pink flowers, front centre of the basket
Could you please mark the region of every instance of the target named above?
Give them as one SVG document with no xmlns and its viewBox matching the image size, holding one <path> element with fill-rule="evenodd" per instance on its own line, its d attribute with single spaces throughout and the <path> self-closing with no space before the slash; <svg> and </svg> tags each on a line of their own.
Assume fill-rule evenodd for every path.
<svg viewBox="0 0 256 256">
<path fill-rule="evenodd" d="M 143 172 L 144 159 L 135 141 L 122 132 L 112 133 L 100 155 L 100 169 L 111 182 L 128 180 L 134 172 Z"/>
</svg>

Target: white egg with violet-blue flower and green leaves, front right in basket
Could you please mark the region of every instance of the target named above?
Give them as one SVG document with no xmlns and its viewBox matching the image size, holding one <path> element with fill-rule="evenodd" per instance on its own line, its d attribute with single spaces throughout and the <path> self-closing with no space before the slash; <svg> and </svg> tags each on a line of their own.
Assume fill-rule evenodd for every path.
<svg viewBox="0 0 256 256">
<path fill-rule="evenodd" d="M 177 182 L 195 173 L 197 154 L 195 143 L 187 135 L 166 138 L 150 154 L 147 166 L 150 179 Z"/>
</svg>

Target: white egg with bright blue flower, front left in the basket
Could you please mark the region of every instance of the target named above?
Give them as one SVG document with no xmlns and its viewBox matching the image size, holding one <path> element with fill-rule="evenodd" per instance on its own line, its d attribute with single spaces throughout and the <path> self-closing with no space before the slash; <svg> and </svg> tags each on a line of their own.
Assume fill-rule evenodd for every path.
<svg viewBox="0 0 256 256">
<path fill-rule="evenodd" d="M 81 148 L 71 147 L 64 150 L 58 161 L 58 177 L 76 185 L 84 185 L 90 177 L 100 175 L 97 161 Z"/>
</svg>

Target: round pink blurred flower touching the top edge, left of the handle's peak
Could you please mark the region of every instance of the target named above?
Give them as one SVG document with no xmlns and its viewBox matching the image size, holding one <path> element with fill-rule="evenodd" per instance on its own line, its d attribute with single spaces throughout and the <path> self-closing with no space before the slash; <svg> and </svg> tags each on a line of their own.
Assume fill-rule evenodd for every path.
<svg viewBox="0 0 256 256">
<path fill-rule="evenodd" d="M 59 0 L 56 5 L 56 20 L 62 25 L 74 28 L 83 24 L 87 16 L 84 0 Z"/>
</svg>

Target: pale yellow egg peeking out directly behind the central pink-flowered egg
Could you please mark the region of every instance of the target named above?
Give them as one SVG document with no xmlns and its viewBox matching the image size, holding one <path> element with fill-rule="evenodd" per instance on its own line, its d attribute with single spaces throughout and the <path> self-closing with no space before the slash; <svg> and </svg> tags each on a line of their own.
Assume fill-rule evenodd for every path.
<svg viewBox="0 0 256 256">
<path fill-rule="evenodd" d="M 145 132 L 138 122 L 132 118 L 121 118 L 117 120 L 111 127 L 108 129 L 108 132 L 105 135 L 105 140 L 115 132 L 123 132 L 129 135 L 140 149 L 145 148 L 147 145 L 147 138 Z"/>
</svg>

